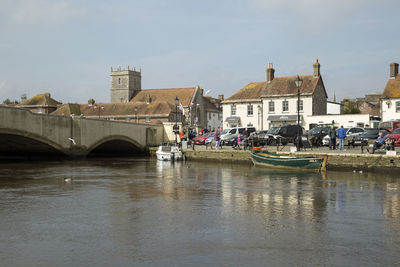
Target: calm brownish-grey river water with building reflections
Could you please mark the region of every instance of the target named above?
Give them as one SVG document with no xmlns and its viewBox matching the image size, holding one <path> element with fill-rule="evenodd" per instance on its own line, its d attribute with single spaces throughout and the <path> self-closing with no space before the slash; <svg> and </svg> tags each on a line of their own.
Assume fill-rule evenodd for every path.
<svg viewBox="0 0 400 267">
<path fill-rule="evenodd" d="M 135 265 L 399 266 L 400 179 L 148 159 L 0 164 L 0 266 Z"/>
</svg>

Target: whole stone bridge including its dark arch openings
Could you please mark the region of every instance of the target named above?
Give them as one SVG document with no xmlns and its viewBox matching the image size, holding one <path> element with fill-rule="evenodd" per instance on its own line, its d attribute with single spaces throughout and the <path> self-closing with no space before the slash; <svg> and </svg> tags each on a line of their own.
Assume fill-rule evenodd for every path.
<svg viewBox="0 0 400 267">
<path fill-rule="evenodd" d="M 144 153 L 164 140 L 161 125 L 37 114 L 0 106 L 0 156 Z"/>
</svg>

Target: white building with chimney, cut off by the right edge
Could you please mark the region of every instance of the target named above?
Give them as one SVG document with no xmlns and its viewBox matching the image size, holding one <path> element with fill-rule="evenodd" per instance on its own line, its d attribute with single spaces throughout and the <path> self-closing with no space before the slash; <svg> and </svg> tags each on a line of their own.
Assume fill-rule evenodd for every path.
<svg viewBox="0 0 400 267">
<path fill-rule="evenodd" d="M 390 77 L 381 98 L 382 121 L 400 120 L 399 64 L 390 64 Z"/>
</svg>

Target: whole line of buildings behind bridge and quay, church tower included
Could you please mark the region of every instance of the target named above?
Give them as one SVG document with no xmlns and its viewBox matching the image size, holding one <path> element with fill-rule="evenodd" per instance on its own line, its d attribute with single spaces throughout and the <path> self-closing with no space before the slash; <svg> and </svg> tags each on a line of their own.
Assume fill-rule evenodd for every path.
<svg viewBox="0 0 400 267">
<path fill-rule="evenodd" d="M 328 101 L 321 65 L 312 64 L 311 75 L 275 77 L 272 63 L 268 63 L 266 79 L 250 82 L 232 96 L 212 98 L 200 86 L 185 88 L 142 89 L 141 70 L 112 69 L 110 72 L 111 102 L 62 104 L 49 93 L 24 100 L 17 106 L 33 112 L 120 120 L 130 123 L 163 124 L 174 139 L 173 126 L 207 128 L 256 127 L 266 130 L 283 124 L 296 124 L 298 108 L 300 123 L 310 129 L 332 121 L 345 127 L 372 126 L 376 121 L 400 119 L 400 75 L 398 64 L 390 64 L 389 80 L 382 94 L 367 94 L 355 100 Z M 300 102 L 298 101 L 300 94 Z M 341 108 L 354 102 L 361 114 L 343 115 Z"/>
</svg>

